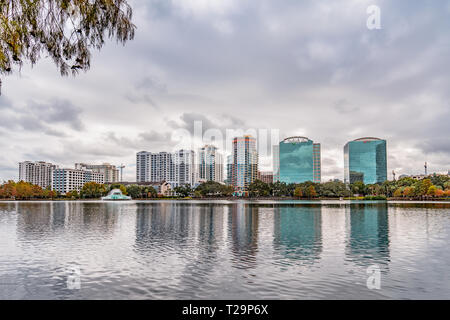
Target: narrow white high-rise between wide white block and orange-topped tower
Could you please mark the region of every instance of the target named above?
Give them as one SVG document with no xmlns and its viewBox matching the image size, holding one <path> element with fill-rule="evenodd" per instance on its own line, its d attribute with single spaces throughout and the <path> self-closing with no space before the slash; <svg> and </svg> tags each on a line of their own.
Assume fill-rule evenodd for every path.
<svg viewBox="0 0 450 320">
<path fill-rule="evenodd" d="M 215 146 L 206 145 L 198 150 L 198 178 L 223 182 L 223 158 Z"/>
</svg>

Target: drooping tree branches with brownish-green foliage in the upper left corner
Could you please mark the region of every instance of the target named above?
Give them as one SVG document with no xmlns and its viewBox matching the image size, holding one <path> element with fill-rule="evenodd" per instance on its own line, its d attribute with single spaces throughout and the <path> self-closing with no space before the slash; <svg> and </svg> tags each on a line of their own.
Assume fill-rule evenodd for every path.
<svg viewBox="0 0 450 320">
<path fill-rule="evenodd" d="M 0 0 L 0 73 L 49 56 L 61 75 L 88 70 L 91 50 L 105 38 L 134 37 L 125 0 Z M 0 82 L 1 84 L 1 82 Z"/>
</svg>

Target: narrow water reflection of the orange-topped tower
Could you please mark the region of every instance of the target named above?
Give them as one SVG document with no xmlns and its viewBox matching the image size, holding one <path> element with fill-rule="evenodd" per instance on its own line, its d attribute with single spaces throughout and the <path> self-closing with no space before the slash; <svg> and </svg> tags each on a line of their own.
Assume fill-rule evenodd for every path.
<svg viewBox="0 0 450 320">
<path fill-rule="evenodd" d="M 258 207 L 252 204 L 233 203 L 228 219 L 231 231 L 232 262 L 236 268 L 256 267 L 258 252 Z"/>
</svg>

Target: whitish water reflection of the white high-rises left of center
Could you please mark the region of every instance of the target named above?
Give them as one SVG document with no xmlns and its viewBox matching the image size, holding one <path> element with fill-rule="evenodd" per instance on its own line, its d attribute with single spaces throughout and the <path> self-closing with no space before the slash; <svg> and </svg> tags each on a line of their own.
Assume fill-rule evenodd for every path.
<svg viewBox="0 0 450 320">
<path fill-rule="evenodd" d="M 217 270 L 225 211 L 212 203 L 137 204 L 135 250 L 155 264 L 170 261 L 177 285 L 196 290 Z"/>
</svg>

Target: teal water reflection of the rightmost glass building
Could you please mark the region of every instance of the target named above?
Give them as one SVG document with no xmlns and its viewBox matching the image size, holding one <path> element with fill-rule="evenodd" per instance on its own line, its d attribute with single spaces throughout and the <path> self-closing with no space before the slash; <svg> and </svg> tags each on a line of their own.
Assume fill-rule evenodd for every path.
<svg viewBox="0 0 450 320">
<path fill-rule="evenodd" d="M 347 256 L 357 264 L 389 262 L 389 223 L 387 203 L 346 206 L 350 222 L 347 232 Z"/>
</svg>

